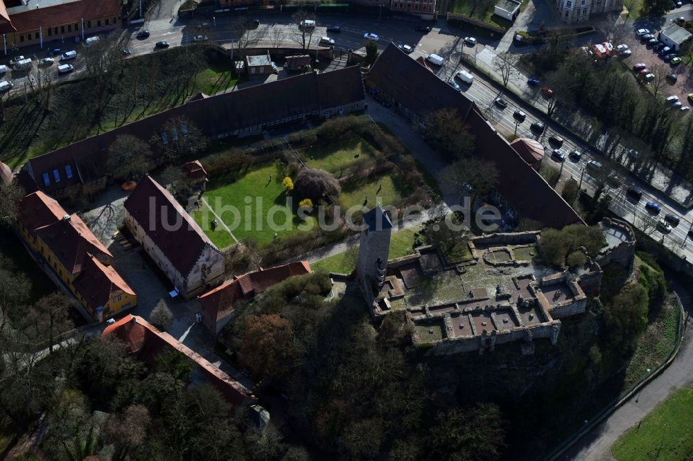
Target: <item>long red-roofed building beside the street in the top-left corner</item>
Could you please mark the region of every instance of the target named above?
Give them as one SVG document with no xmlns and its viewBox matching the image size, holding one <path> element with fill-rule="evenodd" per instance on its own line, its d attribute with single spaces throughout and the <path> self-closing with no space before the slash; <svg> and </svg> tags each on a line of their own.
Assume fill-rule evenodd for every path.
<svg viewBox="0 0 693 461">
<path fill-rule="evenodd" d="M 7 48 L 73 42 L 120 28 L 121 15 L 119 0 L 0 0 L 0 33 Z"/>
</svg>

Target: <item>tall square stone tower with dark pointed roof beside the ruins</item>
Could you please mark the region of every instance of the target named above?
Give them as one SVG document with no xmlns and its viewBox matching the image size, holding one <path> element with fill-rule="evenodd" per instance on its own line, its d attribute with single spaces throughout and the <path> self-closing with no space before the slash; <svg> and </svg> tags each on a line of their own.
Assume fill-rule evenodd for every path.
<svg viewBox="0 0 693 461">
<path fill-rule="evenodd" d="M 363 215 L 363 224 L 366 228 L 361 233 L 358 248 L 356 280 L 370 306 L 375 300 L 375 293 L 385 280 L 392 222 L 383 208 L 376 205 L 376 208 Z"/>
</svg>

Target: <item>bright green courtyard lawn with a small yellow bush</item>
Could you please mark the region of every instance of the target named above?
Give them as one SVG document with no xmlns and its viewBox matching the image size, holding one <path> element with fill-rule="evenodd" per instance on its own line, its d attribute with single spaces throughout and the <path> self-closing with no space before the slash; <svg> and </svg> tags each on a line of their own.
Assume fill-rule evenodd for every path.
<svg viewBox="0 0 693 461">
<path fill-rule="evenodd" d="M 299 199 L 286 196 L 282 179 L 275 163 L 265 164 L 234 182 L 210 183 L 203 198 L 218 214 L 217 219 L 229 226 L 238 240 L 252 237 L 262 246 L 272 242 L 274 233 L 277 233 L 277 237 L 285 237 L 300 232 L 297 226 L 301 223 L 296 215 Z M 288 203 L 290 206 L 287 206 Z M 211 230 L 214 216 L 208 211 L 202 206 L 196 210 L 193 213 L 195 222 L 219 248 L 233 243 L 221 223 L 216 230 Z M 275 224 L 272 227 L 270 218 Z M 313 220 L 313 217 L 308 217 L 308 220 Z"/>
</svg>

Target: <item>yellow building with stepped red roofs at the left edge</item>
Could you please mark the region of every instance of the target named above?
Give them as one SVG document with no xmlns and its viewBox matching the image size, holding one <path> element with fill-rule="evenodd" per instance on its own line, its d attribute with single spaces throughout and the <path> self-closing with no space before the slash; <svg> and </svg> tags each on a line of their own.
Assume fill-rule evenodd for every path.
<svg viewBox="0 0 693 461">
<path fill-rule="evenodd" d="M 113 255 L 76 214 L 41 191 L 19 202 L 17 234 L 41 268 L 60 279 L 95 320 L 137 305 L 137 294 L 110 264 Z"/>
</svg>

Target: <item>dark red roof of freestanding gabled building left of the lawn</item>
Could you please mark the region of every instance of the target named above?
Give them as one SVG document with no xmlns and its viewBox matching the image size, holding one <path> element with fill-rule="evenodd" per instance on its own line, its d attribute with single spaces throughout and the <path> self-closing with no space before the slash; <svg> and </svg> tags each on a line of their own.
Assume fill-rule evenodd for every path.
<svg viewBox="0 0 693 461">
<path fill-rule="evenodd" d="M 155 210 L 150 210 L 152 205 L 155 206 Z M 205 246 L 209 245 L 218 251 L 173 195 L 150 176 L 139 181 L 132 195 L 125 200 L 125 210 L 128 210 L 154 244 L 184 276 L 188 275 L 198 262 Z M 155 222 L 150 222 L 152 215 Z M 166 219 L 168 226 L 164 227 L 161 219 Z"/>
</svg>

